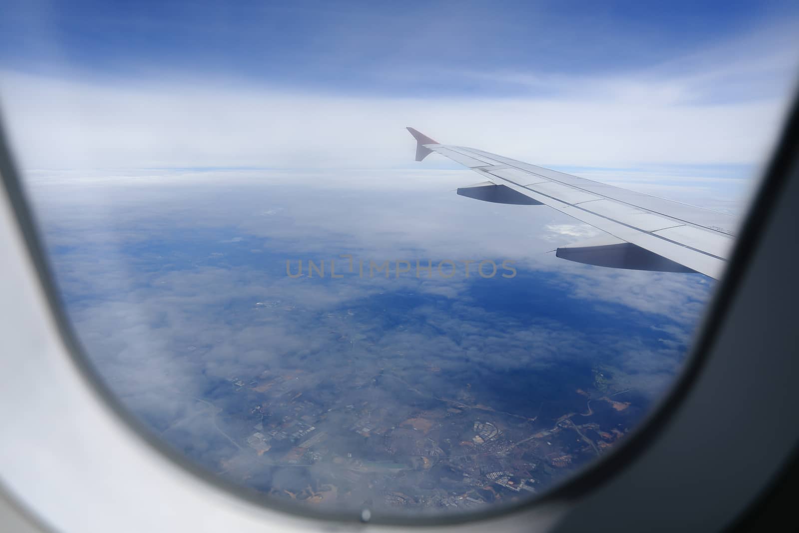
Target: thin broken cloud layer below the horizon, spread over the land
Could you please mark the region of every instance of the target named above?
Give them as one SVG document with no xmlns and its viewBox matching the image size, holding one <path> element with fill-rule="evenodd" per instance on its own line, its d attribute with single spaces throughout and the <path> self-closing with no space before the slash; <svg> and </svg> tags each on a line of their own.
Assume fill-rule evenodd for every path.
<svg viewBox="0 0 799 533">
<path fill-rule="evenodd" d="M 540 415 L 519 430 L 539 431 L 586 410 L 578 388 L 598 397 L 632 389 L 618 424 L 633 428 L 673 384 L 710 287 L 699 276 L 559 260 L 546 250 L 579 233 L 559 213 L 458 197 L 450 185 L 462 172 L 403 172 L 48 171 L 30 190 L 101 379 L 166 444 L 234 483 L 299 490 L 342 468 L 329 455 L 288 467 L 288 448 L 256 455 L 246 444 L 259 421 L 252 408 L 265 405 L 275 423 L 283 395 L 299 392 L 296 406 L 313 413 L 338 457 L 358 457 L 363 439 L 350 428 L 363 413 L 400 427 L 463 398 L 488 409 L 461 412 L 464 428 L 502 412 Z M 519 275 L 285 276 L 287 258 L 338 261 L 341 252 L 511 258 Z M 276 392 L 252 390 L 273 376 L 284 378 Z M 340 505 L 378 494 L 351 484 Z"/>
</svg>

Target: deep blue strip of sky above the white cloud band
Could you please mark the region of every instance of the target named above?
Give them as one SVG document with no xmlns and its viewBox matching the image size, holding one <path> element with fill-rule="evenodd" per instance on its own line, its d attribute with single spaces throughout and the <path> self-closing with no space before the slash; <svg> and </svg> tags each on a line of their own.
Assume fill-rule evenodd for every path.
<svg viewBox="0 0 799 533">
<path fill-rule="evenodd" d="M 0 58 L 101 78 L 160 71 L 349 93 L 514 93 L 524 87 L 452 73 L 616 74 L 797 14 L 793 2 L 11 2 Z"/>
</svg>

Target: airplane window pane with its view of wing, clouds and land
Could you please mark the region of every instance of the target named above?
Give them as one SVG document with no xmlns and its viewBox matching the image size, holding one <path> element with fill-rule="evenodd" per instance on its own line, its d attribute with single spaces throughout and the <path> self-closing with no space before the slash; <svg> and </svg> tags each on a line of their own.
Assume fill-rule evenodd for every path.
<svg viewBox="0 0 799 533">
<path fill-rule="evenodd" d="M 797 22 L 12 2 L 0 96 L 79 356 L 149 436 L 277 507 L 479 513 L 678 380 Z"/>
</svg>

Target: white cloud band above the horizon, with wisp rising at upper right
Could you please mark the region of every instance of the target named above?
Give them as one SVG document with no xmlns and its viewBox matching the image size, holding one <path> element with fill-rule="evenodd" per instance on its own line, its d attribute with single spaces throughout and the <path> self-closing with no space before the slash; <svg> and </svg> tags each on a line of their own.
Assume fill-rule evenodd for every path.
<svg viewBox="0 0 799 533">
<path fill-rule="evenodd" d="M 478 77 L 546 89 L 501 95 L 481 89 L 412 97 L 218 76 L 98 79 L 13 70 L 0 73 L 0 93 L 28 169 L 409 167 L 406 125 L 543 165 L 758 165 L 796 74 L 791 28 L 786 22 L 607 74 L 504 66 L 437 74 L 451 86 Z M 403 66 L 391 72 L 424 75 Z"/>
</svg>

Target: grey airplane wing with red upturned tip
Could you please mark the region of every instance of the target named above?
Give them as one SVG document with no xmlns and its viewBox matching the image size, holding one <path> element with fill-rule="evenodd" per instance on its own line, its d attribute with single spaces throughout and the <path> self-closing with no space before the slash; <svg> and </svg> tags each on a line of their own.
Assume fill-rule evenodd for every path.
<svg viewBox="0 0 799 533">
<path fill-rule="evenodd" d="M 658 272 L 700 272 L 718 279 L 737 217 L 636 193 L 463 146 L 442 145 L 413 128 L 416 161 L 440 153 L 483 177 L 458 189 L 477 200 L 548 205 L 606 235 L 562 246 L 556 255 L 587 265 Z"/>
</svg>

